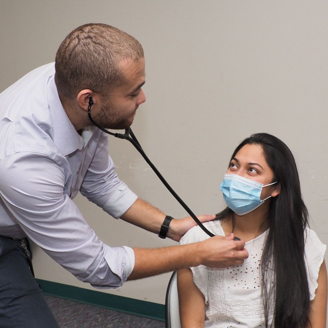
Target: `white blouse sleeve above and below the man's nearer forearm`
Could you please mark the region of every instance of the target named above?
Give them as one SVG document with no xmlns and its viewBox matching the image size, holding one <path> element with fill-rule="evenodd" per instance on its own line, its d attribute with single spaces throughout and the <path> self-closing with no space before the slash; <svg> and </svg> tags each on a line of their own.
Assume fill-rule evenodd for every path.
<svg viewBox="0 0 328 328">
<path fill-rule="evenodd" d="M 206 224 L 205 224 L 206 226 Z M 203 241 L 208 239 L 203 230 L 201 230 L 198 226 L 191 228 L 181 239 L 180 245 L 191 244 L 198 241 Z M 208 301 L 208 268 L 205 265 L 199 265 L 197 267 L 190 268 L 193 273 L 194 283 L 197 288 L 201 291 L 201 293 L 205 297 L 205 304 L 207 305 Z"/>
</svg>

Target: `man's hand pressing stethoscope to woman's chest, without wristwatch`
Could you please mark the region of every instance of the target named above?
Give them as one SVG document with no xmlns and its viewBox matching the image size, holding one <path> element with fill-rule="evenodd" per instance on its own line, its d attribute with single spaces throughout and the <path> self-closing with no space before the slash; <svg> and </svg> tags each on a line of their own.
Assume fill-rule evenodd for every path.
<svg viewBox="0 0 328 328">
<path fill-rule="evenodd" d="M 214 236 L 199 243 L 201 264 L 210 268 L 226 268 L 232 265 L 241 265 L 248 257 L 244 248 L 245 241 L 233 240 L 234 234 L 229 236 Z"/>
</svg>

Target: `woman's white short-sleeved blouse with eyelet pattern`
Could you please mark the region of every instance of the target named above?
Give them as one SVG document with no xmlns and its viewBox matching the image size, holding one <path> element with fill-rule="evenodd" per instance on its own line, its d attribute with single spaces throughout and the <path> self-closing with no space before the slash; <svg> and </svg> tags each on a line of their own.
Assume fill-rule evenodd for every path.
<svg viewBox="0 0 328 328">
<path fill-rule="evenodd" d="M 204 225 L 215 235 L 224 236 L 219 220 L 206 222 Z M 242 265 L 224 269 L 211 269 L 204 265 L 191 268 L 195 285 L 205 297 L 205 328 L 264 327 L 260 264 L 266 235 L 267 231 L 245 244 L 249 257 Z M 181 238 L 180 244 L 190 244 L 207 238 L 209 236 L 196 226 Z M 326 245 L 321 243 L 314 231 L 307 228 L 304 259 L 310 300 L 315 297 L 325 250 Z M 267 283 L 273 284 L 272 279 Z M 273 308 L 269 309 L 269 322 L 272 322 L 272 318 Z"/>
</svg>

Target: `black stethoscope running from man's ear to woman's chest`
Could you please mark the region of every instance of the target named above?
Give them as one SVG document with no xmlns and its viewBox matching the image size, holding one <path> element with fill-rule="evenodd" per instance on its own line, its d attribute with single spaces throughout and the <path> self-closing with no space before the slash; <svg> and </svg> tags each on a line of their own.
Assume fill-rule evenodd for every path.
<svg viewBox="0 0 328 328">
<path fill-rule="evenodd" d="M 145 161 L 148 163 L 148 165 L 153 169 L 155 174 L 159 177 L 159 179 L 162 181 L 164 186 L 169 190 L 169 192 L 174 196 L 174 198 L 180 203 L 180 205 L 187 211 L 187 213 L 195 220 L 195 222 L 199 225 L 199 227 L 210 237 L 214 237 L 215 235 L 212 234 L 209 230 L 207 230 L 203 224 L 197 219 L 196 215 L 193 213 L 193 211 L 185 204 L 185 202 L 177 195 L 177 193 L 172 189 L 172 187 L 167 183 L 167 181 L 163 178 L 162 174 L 159 173 L 159 171 L 156 169 L 154 164 L 150 161 L 150 159 L 147 157 L 145 152 L 142 150 L 137 138 L 133 134 L 131 128 L 125 129 L 125 133 L 113 133 L 110 131 L 107 131 L 106 129 L 102 128 L 100 125 L 98 125 L 91 117 L 91 106 L 93 105 L 92 97 L 89 99 L 89 106 L 88 106 L 88 115 L 90 118 L 90 121 L 98 127 L 101 131 L 104 131 L 108 134 L 113 135 L 116 138 L 120 139 L 126 139 L 129 140 L 135 149 L 142 155 L 142 157 L 145 159 Z M 235 240 L 240 240 L 239 238 L 235 237 Z"/>
</svg>

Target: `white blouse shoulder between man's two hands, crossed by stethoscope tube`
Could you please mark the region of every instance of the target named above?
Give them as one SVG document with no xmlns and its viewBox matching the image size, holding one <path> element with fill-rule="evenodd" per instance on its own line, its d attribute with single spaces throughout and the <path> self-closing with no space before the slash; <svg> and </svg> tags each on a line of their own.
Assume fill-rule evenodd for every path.
<svg viewBox="0 0 328 328">
<path fill-rule="evenodd" d="M 203 225 L 214 235 L 224 236 L 224 232 L 222 230 L 221 223 L 219 220 L 204 222 Z M 196 225 L 195 227 L 187 231 L 184 236 L 182 236 L 180 244 L 191 244 L 198 241 L 206 240 L 208 238 L 210 238 L 210 236 L 208 236 L 205 231 L 203 231 L 198 225 Z"/>
</svg>

